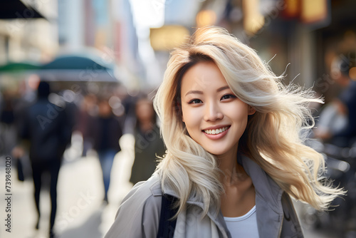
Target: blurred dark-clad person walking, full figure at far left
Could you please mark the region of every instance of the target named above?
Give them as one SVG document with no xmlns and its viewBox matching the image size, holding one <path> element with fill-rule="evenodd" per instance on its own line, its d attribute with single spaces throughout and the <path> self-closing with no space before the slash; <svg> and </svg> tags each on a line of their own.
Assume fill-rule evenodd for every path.
<svg viewBox="0 0 356 238">
<path fill-rule="evenodd" d="M 38 98 L 23 115 L 20 135 L 29 140 L 29 157 L 31 160 L 34 184 L 34 198 L 38 219 L 36 229 L 40 223 L 40 193 L 42 175 L 49 172 L 51 195 L 50 237 L 54 237 L 53 226 L 57 209 L 57 182 L 61 167 L 61 160 L 73 128 L 73 120 L 67 113 L 66 104 L 55 105 L 48 100 L 50 85 L 41 81 L 38 85 Z"/>
</svg>

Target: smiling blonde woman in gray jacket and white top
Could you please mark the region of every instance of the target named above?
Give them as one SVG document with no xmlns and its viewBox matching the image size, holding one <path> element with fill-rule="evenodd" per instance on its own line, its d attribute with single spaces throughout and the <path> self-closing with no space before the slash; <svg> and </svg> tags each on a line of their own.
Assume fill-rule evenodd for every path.
<svg viewBox="0 0 356 238">
<path fill-rule="evenodd" d="M 174 237 L 303 237 L 290 196 L 326 209 L 343 192 L 300 133 L 320 100 L 280 80 L 224 29 L 173 51 L 155 98 L 167 155 L 107 237 L 156 237 L 163 194 L 177 197 Z"/>
</svg>

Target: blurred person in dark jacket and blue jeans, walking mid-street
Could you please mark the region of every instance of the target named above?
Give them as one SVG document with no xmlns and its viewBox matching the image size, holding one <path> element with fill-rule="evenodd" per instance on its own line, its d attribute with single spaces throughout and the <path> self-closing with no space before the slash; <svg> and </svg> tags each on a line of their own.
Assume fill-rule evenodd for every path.
<svg viewBox="0 0 356 238">
<path fill-rule="evenodd" d="M 115 155 L 121 150 L 119 140 L 122 136 L 122 126 L 112 113 L 112 108 L 106 99 L 98 102 L 98 117 L 90 125 L 93 138 L 93 148 L 98 152 L 104 182 L 104 202 L 108 202 L 110 175 Z"/>
</svg>

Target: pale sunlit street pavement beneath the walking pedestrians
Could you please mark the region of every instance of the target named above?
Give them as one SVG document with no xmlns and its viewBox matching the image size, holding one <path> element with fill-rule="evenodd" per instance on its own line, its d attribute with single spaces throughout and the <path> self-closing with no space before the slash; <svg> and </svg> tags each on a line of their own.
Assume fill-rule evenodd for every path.
<svg viewBox="0 0 356 238">
<path fill-rule="evenodd" d="M 131 189 L 130 168 L 132 166 L 132 135 L 124 135 L 120 144 L 122 151 L 115 157 L 112 167 L 112 181 L 109 190 L 109 204 L 103 204 L 103 184 L 100 164 L 95 155 L 65 160 L 58 180 L 58 209 L 56 233 L 59 238 L 98 238 L 108 231 L 117 207 Z M 0 167 L 1 189 L 5 187 L 5 167 Z M 41 194 L 41 223 L 38 230 L 36 209 L 33 201 L 31 178 L 19 182 L 16 170 L 12 170 L 12 223 L 11 233 L 1 225 L 0 237 L 45 238 L 48 237 L 50 199 L 48 191 Z M 4 189 L 2 190 L 4 191 Z M 5 192 L 2 192 L 5 194 Z M 1 220 L 5 217 L 5 203 L 1 201 Z M 305 238 L 333 238 L 330 232 L 320 233 L 305 230 Z"/>
</svg>

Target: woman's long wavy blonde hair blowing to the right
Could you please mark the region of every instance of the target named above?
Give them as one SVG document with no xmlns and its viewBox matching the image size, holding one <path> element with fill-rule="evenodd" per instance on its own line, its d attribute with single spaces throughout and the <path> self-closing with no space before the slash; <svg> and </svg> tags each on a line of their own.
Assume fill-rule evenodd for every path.
<svg viewBox="0 0 356 238">
<path fill-rule="evenodd" d="M 182 76 L 201 61 L 213 61 L 236 96 L 256 109 L 239 140 L 239 152 L 260 165 L 289 195 L 315 209 L 327 209 L 344 193 L 325 182 L 323 155 L 304 144 L 305 132 L 314 125 L 308 104 L 322 100 L 314 98 L 311 90 L 285 86 L 283 77 L 276 76 L 253 49 L 225 29 L 208 26 L 172 52 L 154 99 L 167 146 L 157 172 L 162 189 L 168 185 L 179 195 L 178 214 L 194 197 L 204 202 L 204 214 L 211 206 L 219 209 L 224 192 L 219 161 L 189 137 L 182 122 Z"/>
</svg>

